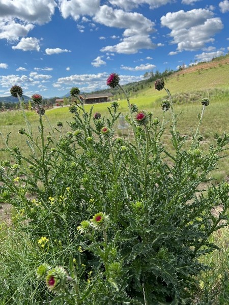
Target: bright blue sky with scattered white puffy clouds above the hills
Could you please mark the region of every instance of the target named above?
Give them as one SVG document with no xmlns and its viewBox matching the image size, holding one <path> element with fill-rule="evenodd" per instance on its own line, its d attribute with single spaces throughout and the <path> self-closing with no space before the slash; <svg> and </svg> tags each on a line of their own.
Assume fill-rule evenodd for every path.
<svg viewBox="0 0 229 305">
<path fill-rule="evenodd" d="M 63 96 L 229 51 L 229 0 L 0 0 L 0 96 Z"/>
</svg>

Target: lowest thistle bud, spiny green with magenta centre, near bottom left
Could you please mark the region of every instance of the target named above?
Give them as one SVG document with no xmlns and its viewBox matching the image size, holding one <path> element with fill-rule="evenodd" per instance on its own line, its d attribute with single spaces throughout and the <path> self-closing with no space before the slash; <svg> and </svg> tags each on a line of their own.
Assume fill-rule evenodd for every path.
<svg viewBox="0 0 229 305">
<path fill-rule="evenodd" d="M 46 276 L 46 285 L 48 290 L 52 292 L 59 292 L 65 290 L 67 285 L 67 272 L 63 267 L 55 267 L 48 271 Z"/>
</svg>

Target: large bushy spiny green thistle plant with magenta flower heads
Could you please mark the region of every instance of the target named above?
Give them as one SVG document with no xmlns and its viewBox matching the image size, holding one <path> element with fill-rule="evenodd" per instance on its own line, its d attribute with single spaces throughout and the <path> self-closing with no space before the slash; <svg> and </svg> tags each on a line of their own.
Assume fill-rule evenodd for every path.
<svg viewBox="0 0 229 305">
<path fill-rule="evenodd" d="M 203 151 L 198 136 L 204 103 L 187 145 L 162 79 L 155 85 L 165 89 L 169 103 L 162 107 L 162 120 L 144 110 L 134 114 L 118 81 L 112 85 L 127 97 L 130 140 L 116 137 L 117 103 L 108 107 L 109 118 L 95 117 L 72 88 L 79 103 L 70 109 L 71 131 L 60 129 L 59 140 L 45 138 L 39 112 L 40 142 L 30 125 L 23 130 L 29 158 L 6 138 L 15 164 L 2 165 L 1 194 L 10 194 L 17 230 L 30 232 L 27 238 L 40 253 L 43 265 L 35 260 L 34 269 L 39 267 L 38 282 L 45 280 L 55 293 L 52 303 L 190 304 L 195 276 L 208 269 L 199 257 L 216 248 L 209 238 L 227 221 L 229 186 L 211 185 L 209 173 L 229 135 L 216 135 L 215 145 Z M 162 142 L 166 110 L 172 153 Z M 47 300 L 45 290 L 34 299 Z"/>
</svg>

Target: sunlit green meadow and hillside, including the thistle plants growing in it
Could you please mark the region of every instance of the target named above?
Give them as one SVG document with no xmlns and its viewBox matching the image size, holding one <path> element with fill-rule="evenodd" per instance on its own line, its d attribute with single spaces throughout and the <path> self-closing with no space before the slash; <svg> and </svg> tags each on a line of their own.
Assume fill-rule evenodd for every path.
<svg viewBox="0 0 229 305">
<path fill-rule="evenodd" d="M 228 68 L 167 78 L 171 111 L 146 83 L 137 114 L 0 113 L 0 304 L 227 303 Z"/>
</svg>

